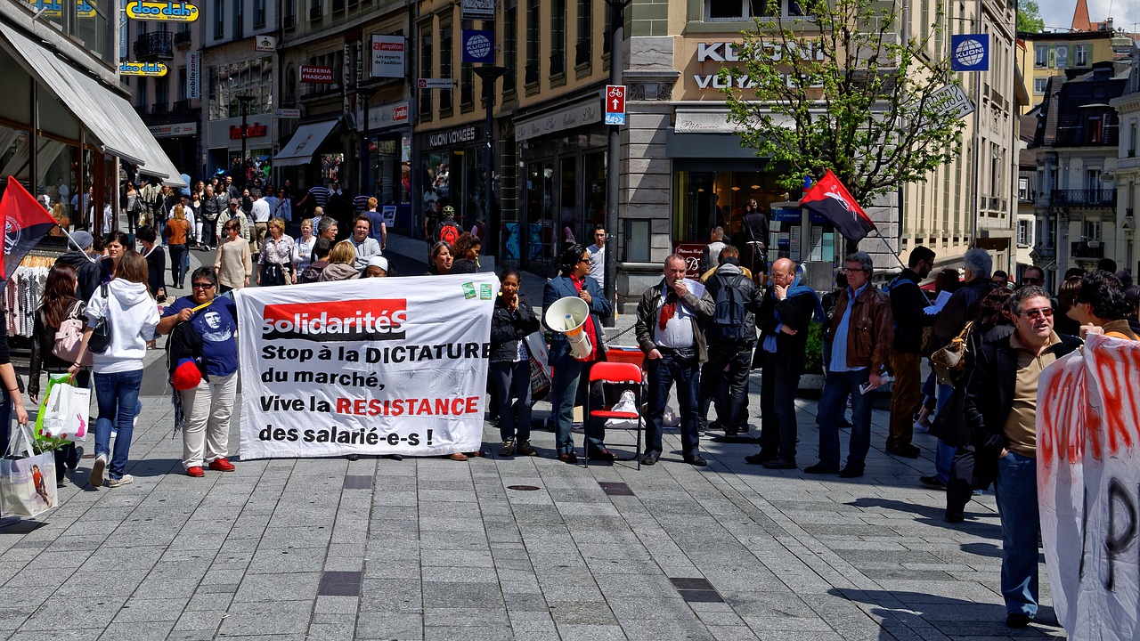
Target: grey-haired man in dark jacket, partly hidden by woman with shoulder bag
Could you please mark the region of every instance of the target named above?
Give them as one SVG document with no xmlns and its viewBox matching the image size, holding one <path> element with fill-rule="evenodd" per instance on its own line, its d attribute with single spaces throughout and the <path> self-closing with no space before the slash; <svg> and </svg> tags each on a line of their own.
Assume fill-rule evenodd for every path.
<svg viewBox="0 0 1140 641">
<path fill-rule="evenodd" d="M 994 282 L 991 277 L 993 259 L 990 257 L 990 252 L 980 249 L 969 250 L 962 257 L 962 262 L 964 263 L 966 271 L 962 281 L 964 284 L 950 297 L 946 306 L 938 314 L 938 319 L 934 323 L 934 335 L 937 339 L 936 344 L 938 346 L 950 343 L 966 327 L 967 323 L 974 320 L 974 317 L 978 315 L 978 307 L 982 305 L 982 299 L 986 298 L 986 294 L 994 289 Z M 954 391 L 954 386 L 938 384 L 936 416 L 946 406 L 952 391 Z M 950 435 L 943 436 L 948 437 Z M 935 456 L 935 474 L 919 477 L 919 481 L 934 489 L 946 489 L 946 485 L 950 482 L 950 466 L 954 462 L 954 452 L 958 451 L 960 445 L 964 446 L 968 444 L 946 443 L 943 439 L 938 439 L 938 451 Z"/>
</svg>

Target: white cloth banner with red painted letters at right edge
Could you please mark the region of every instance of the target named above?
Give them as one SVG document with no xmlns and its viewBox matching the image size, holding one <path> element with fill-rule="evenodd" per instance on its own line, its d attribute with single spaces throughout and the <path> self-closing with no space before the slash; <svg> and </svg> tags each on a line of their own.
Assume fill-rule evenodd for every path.
<svg viewBox="0 0 1140 641">
<path fill-rule="evenodd" d="M 1037 388 L 1037 501 L 1069 639 L 1140 639 L 1140 342 L 1090 334 Z"/>
</svg>

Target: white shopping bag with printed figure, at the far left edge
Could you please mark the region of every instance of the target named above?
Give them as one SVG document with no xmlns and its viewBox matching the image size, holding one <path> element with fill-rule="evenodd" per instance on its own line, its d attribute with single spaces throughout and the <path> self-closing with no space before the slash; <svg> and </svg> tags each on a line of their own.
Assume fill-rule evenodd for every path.
<svg viewBox="0 0 1140 641">
<path fill-rule="evenodd" d="M 17 425 L 0 459 L 0 505 L 6 513 L 34 517 L 57 504 L 55 454 L 33 454 L 33 441 L 27 425 Z"/>
</svg>

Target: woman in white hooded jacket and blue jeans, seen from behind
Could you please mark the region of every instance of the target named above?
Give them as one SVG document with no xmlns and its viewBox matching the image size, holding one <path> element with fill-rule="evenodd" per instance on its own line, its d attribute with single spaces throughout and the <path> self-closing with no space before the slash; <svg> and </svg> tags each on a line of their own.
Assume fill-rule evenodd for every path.
<svg viewBox="0 0 1140 641">
<path fill-rule="evenodd" d="M 95 291 L 87 303 L 88 327 L 83 331 L 76 363 L 83 360 L 91 340 L 91 332 L 99 319 L 111 324 L 111 344 L 103 354 L 92 354 L 95 396 L 99 419 L 95 423 L 95 462 L 91 464 L 91 486 L 103 485 L 103 474 L 111 459 L 107 476 L 109 487 L 135 480 L 123 473 L 130 456 L 135 414 L 138 412 L 139 388 L 142 386 L 142 357 L 146 343 L 155 338 L 158 326 L 158 306 L 147 290 L 146 259 L 136 251 L 128 251 L 120 259 L 115 277 Z M 71 366 L 71 372 L 79 370 Z M 117 428 L 114 455 L 111 452 L 111 430 Z"/>
</svg>

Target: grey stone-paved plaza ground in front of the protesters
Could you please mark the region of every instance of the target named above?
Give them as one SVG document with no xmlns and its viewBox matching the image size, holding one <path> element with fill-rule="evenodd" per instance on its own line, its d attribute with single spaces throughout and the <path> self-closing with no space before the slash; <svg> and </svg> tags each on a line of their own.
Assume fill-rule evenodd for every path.
<svg viewBox="0 0 1140 641">
<path fill-rule="evenodd" d="M 815 403 L 798 404 L 804 465 Z M 917 437 L 918 461 L 887 456 L 881 411 L 853 480 L 747 465 L 754 445 L 708 439 L 695 469 L 675 430 L 641 471 L 560 463 L 539 431 L 542 457 L 238 461 L 192 479 L 171 424 L 168 397 L 146 397 L 133 485 L 91 488 L 87 457 L 59 508 L 0 530 L 0 639 L 1064 635 L 1004 626 L 993 496 L 943 522 L 944 496 L 917 484 L 934 439 Z M 489 423 L 484 439 L 497 452 Z M 633 454 L 632 432 L 609 441 Z"/>
</svg>

